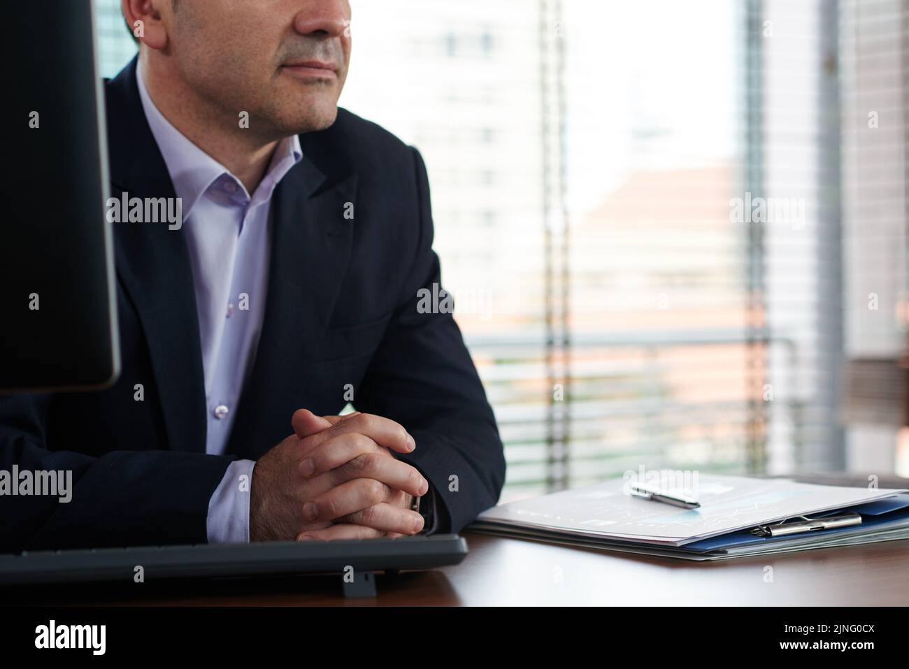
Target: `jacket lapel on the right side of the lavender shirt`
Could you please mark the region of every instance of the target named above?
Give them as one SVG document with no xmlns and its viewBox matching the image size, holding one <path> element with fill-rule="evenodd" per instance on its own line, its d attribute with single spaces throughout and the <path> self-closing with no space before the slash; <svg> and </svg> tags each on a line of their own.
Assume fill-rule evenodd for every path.
<svg viewBox="0 0 909 669">
<path fill-rule="evenodd" d="M 305 136 L 301 137 L 305 140 Z M 292 429 L 306 402 L 306 343 L 323 335 L 350 260 L 357 175 L 325 175 L 307 157 L 275 188 L 265 321 L 227 452 L 258 457 Z"/>
</svg>

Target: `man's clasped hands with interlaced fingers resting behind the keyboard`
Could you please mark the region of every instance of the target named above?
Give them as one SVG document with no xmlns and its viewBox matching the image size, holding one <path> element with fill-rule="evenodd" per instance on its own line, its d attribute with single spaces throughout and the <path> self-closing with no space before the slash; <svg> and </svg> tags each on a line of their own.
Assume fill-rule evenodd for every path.
<svg viewBox="0 0 909 669">
<path fill-rule="evenodd" d="M 429 483 L 392 455 L 414 438 L 373 414 L 295 412 L 294 433 L 259 458 L 249 504 L 250 541 L 369 539 L 417 534 L 411 510 Z"/>
</svg>

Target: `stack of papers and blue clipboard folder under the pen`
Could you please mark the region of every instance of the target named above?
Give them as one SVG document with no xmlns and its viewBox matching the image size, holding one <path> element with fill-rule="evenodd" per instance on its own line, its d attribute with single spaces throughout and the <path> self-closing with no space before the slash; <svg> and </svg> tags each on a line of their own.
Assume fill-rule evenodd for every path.
<svg viewBox="0 0 909 669">
<path fill-rule="evenodd" d="M 628 494 L 628 481 L 618 479 L 496 506 L 480 514 L 469 529 L 688 560 L 909 538 L 906 490 L 701 475 L 696 496 L 700 508 L 679 508 Z M 849 512 L 860 514 L 861 524 L 787 536 L 751 532 L 759 526 Z"/>
</svg>

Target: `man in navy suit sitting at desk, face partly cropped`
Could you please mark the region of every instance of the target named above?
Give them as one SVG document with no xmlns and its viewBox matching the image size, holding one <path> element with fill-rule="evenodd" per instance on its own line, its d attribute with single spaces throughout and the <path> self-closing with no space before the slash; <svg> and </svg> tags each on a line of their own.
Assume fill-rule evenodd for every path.
<svg viewBox="0 0 909 669">
<path fill-rule="evenodd" d="M 460 530 L 495 504 L 503 447 L 452 315 L 421 307 L 423 160 L 337 107 L 346 0 L 123 9 L 142 43 L 105 86 L 123 371 L 0 399 L 0 470 L 73 480 L 69 501 L 0 495 L 0 550 Z"/>
</svg>

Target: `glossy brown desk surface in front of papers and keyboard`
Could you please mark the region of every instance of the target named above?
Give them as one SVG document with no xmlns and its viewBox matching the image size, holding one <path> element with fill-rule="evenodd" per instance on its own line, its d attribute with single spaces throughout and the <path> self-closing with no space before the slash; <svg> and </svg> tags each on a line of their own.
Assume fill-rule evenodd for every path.
<svg viewBox="0 0 909 669">
<path fill-rule="evenodd" d="M 905 487 L 904 482 L 898 483 Z M 345 599 L 340 576 L 304 576 L 130 584 L 109 592 L 96 585 L 65 592 L 48 590 L 46 594 L 30 590 L 21 601 L 342 606 L 909 605 L 909 540 L 693 563 L 482 534 L 464 533 L 464 537 L 470 554 L 463 563 L 435 572 L 380 575 L 375 599 Z M 139 597 L 136 588 L 141 588 Z"/>
</svg>

